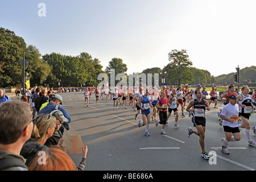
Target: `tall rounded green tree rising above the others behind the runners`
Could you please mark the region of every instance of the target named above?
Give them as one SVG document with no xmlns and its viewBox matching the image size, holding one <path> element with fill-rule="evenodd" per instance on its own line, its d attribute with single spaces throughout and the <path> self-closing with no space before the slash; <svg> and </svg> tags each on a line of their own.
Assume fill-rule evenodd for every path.
<svg viewBox="0 0 256 182">
<path fill-rule="evenodd" d="M 167 79 L 171 84 L 190 84 L 194 80 L 194 74 L 190 71 L 192 61 L 189 60 L 187 50 L 172 50 L 168 53 L 168 60 L 171 63 L 167 64 L 163 70 L 167 71 Z"/>
</svg>

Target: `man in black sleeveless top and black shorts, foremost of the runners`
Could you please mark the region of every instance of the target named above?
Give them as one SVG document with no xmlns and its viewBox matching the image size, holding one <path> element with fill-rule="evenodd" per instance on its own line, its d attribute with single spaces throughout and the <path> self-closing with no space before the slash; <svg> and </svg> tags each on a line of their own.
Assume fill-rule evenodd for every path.
<svg viewBox="0 0 256 182">
<path fill-rule="evenodd" d="M 207 151 L 205 151 L 204 147 L 204 138 L 205 138 L 205 125 L 206 125 L 206 119 L 205 119 L 205 109 L 210 110 L 210 106 L 207 102 L 207 100 L 202 99 L 202 92 L 201 90 L 195 90 L 195 100 L 189 102 L 187 106 L 187 111 L 192 113 L 193 118 L 192 122 L 193 125 L 196 127 L 197 130 L 192 130 L 191 127 L 188 127 L 188 137 L 191 136 L 191 134 L 195 133 L 198 135 L 199 143 L 201 146 L 201 156 L 204 159 L 209 159 L 210 156 L 207 154 Z"/>
</svg>

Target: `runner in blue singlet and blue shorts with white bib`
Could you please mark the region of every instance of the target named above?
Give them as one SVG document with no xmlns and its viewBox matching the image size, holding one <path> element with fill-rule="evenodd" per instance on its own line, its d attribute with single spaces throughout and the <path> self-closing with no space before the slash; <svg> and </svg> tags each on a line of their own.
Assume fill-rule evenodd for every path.
<svg viewBox="0 0 256 182">
<path fill-rule="evenodd" d="M 144 96 L 139 98 L 137 105 L 141 108 L 141 114 L 142 114 L 142 121 L 139 121 L 139 127 L 141 125 L 146 125 L 146 130 L 144 132 L 144 135 L 150 136 L 148 133 L 148 128 L 150 127 L 150 107 L 152 107 L 150 103 L 150 98 L 148 97 L 148 90 L 146 90 L 146 93 Z"/>
</svg>

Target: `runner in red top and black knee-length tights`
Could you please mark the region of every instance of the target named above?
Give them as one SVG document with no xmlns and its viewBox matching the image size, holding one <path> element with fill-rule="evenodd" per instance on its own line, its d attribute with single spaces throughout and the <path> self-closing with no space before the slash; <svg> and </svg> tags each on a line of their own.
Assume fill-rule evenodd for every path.
<svg viewBox="0 0 256 182">
<path fill-rule="evenodd" d="M 160 98 L 157 101 L 156 108 L 159 109 L 159 121 L 156 121 L 155 126 L 157 127 L 158 124 L 162 125 L 162 131 L 161 133 L 163 135 L 166 135 L 166 132 L 164 131 L 166 127 L 166 121 L 167 121 L 167 106 L 170 106 L 168 103 L 168 98 L 166 98 L 166 92 L 163 90 L 160 92 Z"/>
</svg>

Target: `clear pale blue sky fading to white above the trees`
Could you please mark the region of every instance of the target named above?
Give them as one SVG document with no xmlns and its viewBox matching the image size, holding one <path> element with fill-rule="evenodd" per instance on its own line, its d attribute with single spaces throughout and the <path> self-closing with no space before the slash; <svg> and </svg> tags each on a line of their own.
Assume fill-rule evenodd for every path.
<svg viewBox="0 0 256 182">
<path fill-rule="evenodd" d="M 103 69 L 121 58 L 127 73 L 163 68 L 168 52 L 187 49 L 193 67 L 218 76 L 256 65 L 255 8 L 255 0 L 0 0 L 0 27 L 42 55 L 88 52 Z"/>
</svg>

